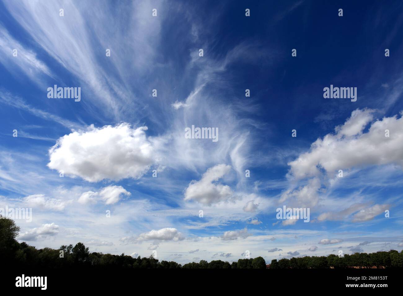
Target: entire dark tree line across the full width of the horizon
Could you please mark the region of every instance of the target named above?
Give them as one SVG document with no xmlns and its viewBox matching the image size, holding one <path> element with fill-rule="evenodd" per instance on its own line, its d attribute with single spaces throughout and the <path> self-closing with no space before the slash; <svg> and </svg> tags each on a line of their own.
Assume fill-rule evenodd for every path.
<svg viewBox="0 0 403 296">
<path fill-rule="evenodd" d="M 1 217 L 1 215 L 0 215 Z M 42 248 L 37 249 L 26 242 L 19 243 L 16 238 L 20 228 L 11 219 L 0 218 L 0 258 L 3 263 L 11 263 L 14 267 L 34 268 L 69 268 L 69 267 L 90 267 L 90 268 L 266 268 L 263 257 L 239 259 L 229 263 L 228 261 L 213 260 L 207 262 L 201 260 L 198 263 L 191 262 L 181 265 L 175 261 L 159 261 L 150 256 L 133 258 L 125 255 L 112 255 L 98 252 L 89 252 L 89 248 L 82 242 L 75 246 L 72 244 L 62 245 L 59 249 Z M 403 250 L 376 253 L 355 253 L 353 255 L 328 256 L 305 256 L 291 259 L 274 259 L 270 268 L 370 268 L 403 267 Z"/>
</svg>

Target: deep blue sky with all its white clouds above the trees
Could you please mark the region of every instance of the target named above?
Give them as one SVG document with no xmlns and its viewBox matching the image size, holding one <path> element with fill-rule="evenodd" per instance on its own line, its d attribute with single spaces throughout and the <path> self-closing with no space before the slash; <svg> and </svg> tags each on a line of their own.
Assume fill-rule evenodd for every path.
<svg viewBox="0 0 403 296">
<path fill-rule="evenodd" d="M 402 8 L 0 2 L 0 207 L 32 208 L 18 239 L 38 248 L 179 263 L 400 251 Z M 81 100 L 48 98 L 54 85 Z M 330 85 L 357 101 L 324 98 Z M 186 139 L 192 125 L 218 141 Z M 283 206 L 310 222 L 276 219 Z"/>
</svg>

